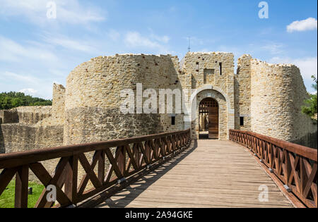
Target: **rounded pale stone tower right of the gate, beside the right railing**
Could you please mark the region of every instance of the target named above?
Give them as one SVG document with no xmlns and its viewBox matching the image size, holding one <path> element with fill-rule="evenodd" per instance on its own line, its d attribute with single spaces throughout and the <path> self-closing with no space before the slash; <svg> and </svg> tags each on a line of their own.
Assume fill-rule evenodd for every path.
<svg viewBox="0 0 318 222">
<path fill-rule="evenodd" d="M 252 131 L 289 142 L 317 131 L 301 112 L 307 92 L 296 66 L 254 59 L 251 76 Z M 305 141 L 298 143 L 307 145 Z"/>
</svg>

